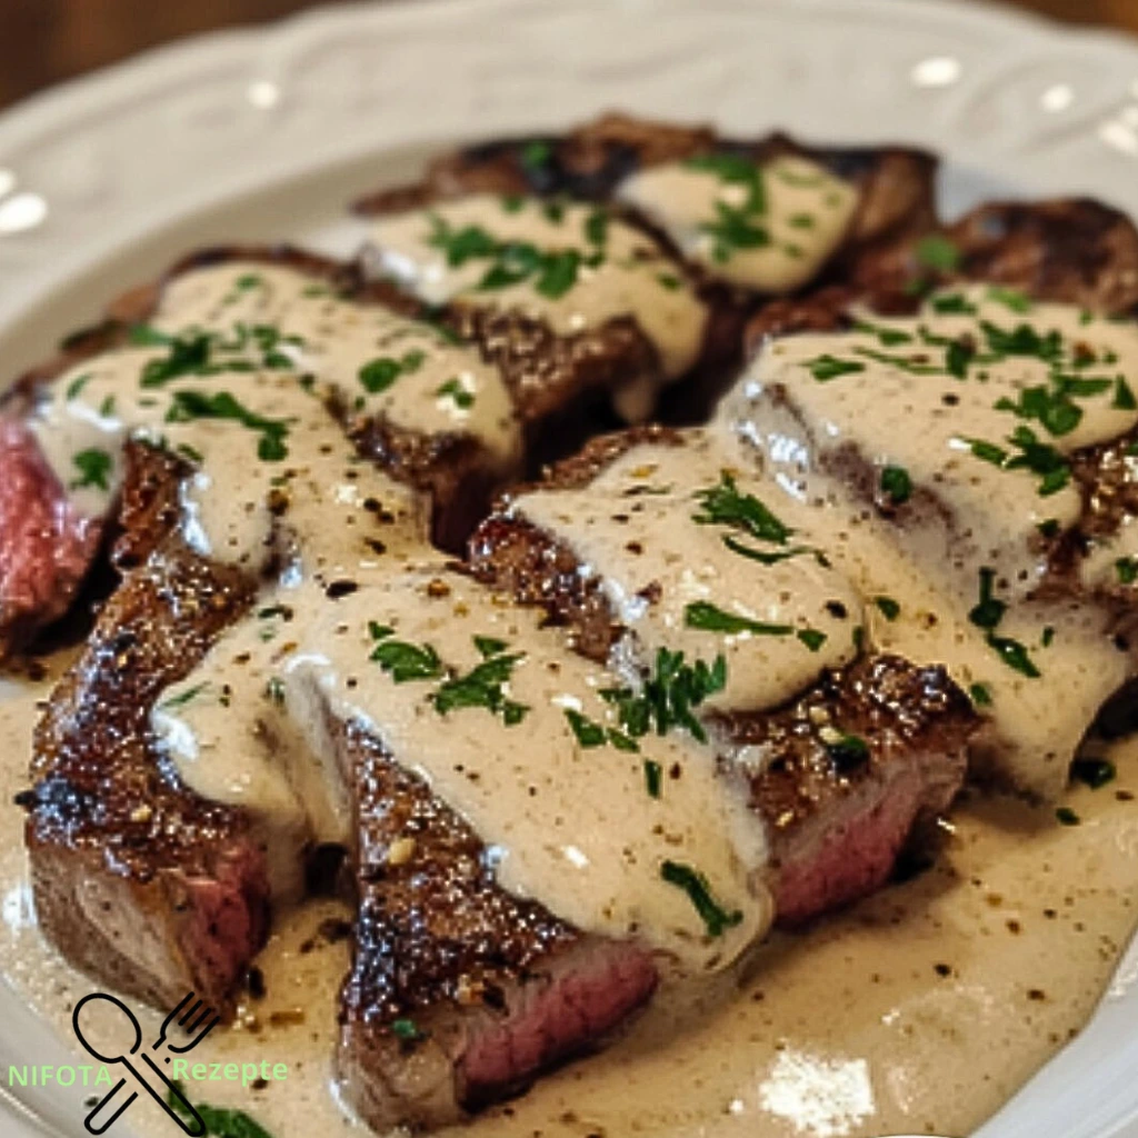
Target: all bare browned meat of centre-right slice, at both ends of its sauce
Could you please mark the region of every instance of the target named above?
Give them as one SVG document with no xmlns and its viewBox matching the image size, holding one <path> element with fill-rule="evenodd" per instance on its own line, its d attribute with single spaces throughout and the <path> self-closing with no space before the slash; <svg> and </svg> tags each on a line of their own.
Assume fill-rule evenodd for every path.
<svg viewBox="0 0 1138 1138">
<path fill-rule="evenodd" d="M 588 485 L 644 444 L 683 446 L 667 428 L 625 431 L 591 443 L 553 468 L 536 489 Z M 475 533 L 476 577 L 567 626 L 570 642 L 607 660 L 625 629 L 574 550 L 512 512 L 514 492 Z M 643 498 L 651 503 L 651 497 Z M 651 509 L 649 504 L 646 506 Z M 784 707 L 709 717 L 724 776 L 741 778 L 769 834 L 778 920 L 799 924 L 880 888 L 910 839 L 926 836 L 959 790 L 978 727 L 970 700 L 942 668 L 868 654 Z"/>
</svg>

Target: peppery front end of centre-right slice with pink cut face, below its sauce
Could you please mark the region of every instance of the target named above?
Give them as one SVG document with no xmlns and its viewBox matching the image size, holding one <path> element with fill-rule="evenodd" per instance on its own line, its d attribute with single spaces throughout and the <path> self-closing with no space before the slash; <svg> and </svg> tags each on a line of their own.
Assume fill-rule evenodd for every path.
<svg viewBox="0 0 1138 1138">
<path fill-rule="evenodd" d="M 747 793 L 767 824 L 778 921 L 797 925 L 879 889 L 927 839 L 964 782 L 979 719 L 943 668 L 873 655 L 780 710 L 711 724 L 759 756 Z M 842 741 L 824 742 L 825 728 Z"/>
</svg>

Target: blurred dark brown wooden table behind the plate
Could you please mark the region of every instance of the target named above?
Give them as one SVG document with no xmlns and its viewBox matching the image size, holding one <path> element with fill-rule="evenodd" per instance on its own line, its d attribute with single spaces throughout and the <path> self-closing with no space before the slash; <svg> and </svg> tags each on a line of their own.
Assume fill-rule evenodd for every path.
<svg viewBox="0 0 1138 1138">
<path fill-rule="evenodd" d="M 1017 6 L 1138 33 L 1138 0 L 1017 0 Z M 0 0 L 0 107 L 157 43 L 311 7 L 313 0 Z"/>
</svg>

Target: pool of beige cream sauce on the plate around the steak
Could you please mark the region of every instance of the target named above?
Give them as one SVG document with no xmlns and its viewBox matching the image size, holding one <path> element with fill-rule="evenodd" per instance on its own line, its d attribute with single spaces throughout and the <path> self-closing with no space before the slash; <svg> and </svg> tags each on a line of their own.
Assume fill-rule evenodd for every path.
<svg viewBox="0 0 1138 1138">
<path fill-rule="evenodd" d="M 48 684 L 0 690 L 6 801 L 26 785 L 35 701 L 47 696 L 64 662 L 52 661 Z M 1059 826 L 1049 809 L 965 806 L 930 874 L 805 934 L 777 935 L 711 983 L 661 992 L 627 1039 L 445 1133 L 971 1132 L 1087 1021 L 1132 930 L 1138 814 L 1115 792 L 1138 792 L 1138 753 L 1132 743 L 1107 753 L 1119 766 L 1118 782 L 1067 800 L 1081 825 Z M 71 1008 L 92 982 L 40 937 L 22 827 L 22 811 L 0 813 L 0 967 L 14 993 L 66 1045 Z M 281 914 L 257 960 L 265 998 L 246 998 L 233 1028 L 214 1031 L 192 1056 L 283 1062 L 288 1079 L 256 1090 L 196 1083 L 193 1100 L 246 1111 L 273 1138 L 365 1132 L 340 1113 L 329 1089 L 349 945 L 329 945 L 315 933 L 336 916 L 351 918 L 332 902 Z M 155 1036 L 164 1013 L 141 1006 L 135 1013 L 145 1037 Z M 90 1062 L 77 1045 L 72 1050 L 73 1062 Z M 53 1056 L 33 1048 L 17 1062 L 48 1061 Z M 55 1105 L 57 1091 L 48 1094 Z M 75 1118 L 83 1113 L 76 1102 Z M 130 1123 L 140 1133 L 168 1125 L 142 1098 Z"/>
</svg>

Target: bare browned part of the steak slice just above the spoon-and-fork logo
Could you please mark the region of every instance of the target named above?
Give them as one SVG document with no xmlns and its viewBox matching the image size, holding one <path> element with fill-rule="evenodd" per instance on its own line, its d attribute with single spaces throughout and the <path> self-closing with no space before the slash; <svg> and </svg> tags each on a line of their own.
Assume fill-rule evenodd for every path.
<svg viewBox="0 0 1138 1138">
<path fill-rule="evenodd" d="M 251 602 L 253 583 L 167 544 L 108 602 L 34 739 L 26 843 L 41 926 L 84 972 L 159 1006 L 225 1007 L 267 931 L 242 815 L 188 791 L 150 712 Z"/>
</svg>

